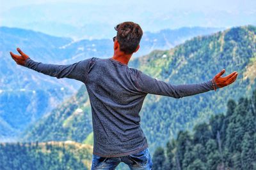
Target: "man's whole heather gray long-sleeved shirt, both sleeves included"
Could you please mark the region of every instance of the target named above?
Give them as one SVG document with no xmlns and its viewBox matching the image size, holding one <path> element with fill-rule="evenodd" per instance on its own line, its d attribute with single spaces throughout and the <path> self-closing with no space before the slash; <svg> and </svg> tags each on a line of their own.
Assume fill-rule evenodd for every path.
<svg viewBox="0 0 256 170">
<path fill-rule="evenodd" d="M 147 94 L 180 98 L 214 90 L 211 80 L 172 85 L 111 58 L 93 57 L 70 65 L 27 59 L 25 66 L 56 78 L 73 78 L 86 85 L 92 107 L 93 154 L 100 157 L 131 155 L 148 147 L 139 115 Z"/>
</svg>

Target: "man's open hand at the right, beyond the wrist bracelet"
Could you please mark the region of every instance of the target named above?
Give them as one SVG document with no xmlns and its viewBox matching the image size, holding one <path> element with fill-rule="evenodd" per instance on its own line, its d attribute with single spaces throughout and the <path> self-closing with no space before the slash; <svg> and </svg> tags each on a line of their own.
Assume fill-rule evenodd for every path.
<svg viewBox="0 0 256 170">
<path fill-rule="evenodd" d="M 236 81 L 238 73 L 234 71 L 233 73 L 229 74 L 228 76 L 221 77 L 222 74 L 225 73 L 225 69 L 223 69 L 220 73 L 216 74 L 214 76 L 214 81 L 218 88 L 225 87 L 227 85 L 230 85 L 234 81 Z"/>
</svg>

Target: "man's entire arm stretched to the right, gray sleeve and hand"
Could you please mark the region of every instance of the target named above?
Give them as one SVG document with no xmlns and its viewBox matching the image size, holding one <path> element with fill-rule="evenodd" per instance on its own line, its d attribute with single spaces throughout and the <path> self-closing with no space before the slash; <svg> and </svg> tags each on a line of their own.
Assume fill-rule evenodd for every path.
<svg viewBox="0 0 256 170">
<path fill-rule="evenodd" d="M 185 96 L 193 96 L 195 94 L 200 94 L 209 90 L 216 90 L 230 85 L 236 80 L 238 74 L 236 71 L 234 71 L 226 77 L 221 77 L 221 75 L 224 73 L 225 69 L 216 74 L 212 80 L 204 83 L 172 85 L 164 81 L 156 80 L 156 78 L 151 78 L 147 74 L 138 71 L 134 81 L 140 92 L 180 98 Z"/>
</svg>

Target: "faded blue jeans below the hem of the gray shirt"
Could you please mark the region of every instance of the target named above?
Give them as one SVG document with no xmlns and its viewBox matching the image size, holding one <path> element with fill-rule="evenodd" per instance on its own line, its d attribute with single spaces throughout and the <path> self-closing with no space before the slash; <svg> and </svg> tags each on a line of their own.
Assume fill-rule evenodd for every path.
<svg viewBox="0 0 256 170">
<path fill-rule="evenodd" d="M 152 169 L 153 165 L 149 150 L 145 148 L 138 153 L 122 157 L 99 157 L 93 154 L 91 170 L 115 169 L 120 162 L 124 162 L 132 170 L 149 170 Z"/>
</svg>

